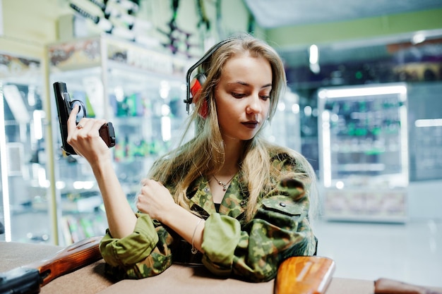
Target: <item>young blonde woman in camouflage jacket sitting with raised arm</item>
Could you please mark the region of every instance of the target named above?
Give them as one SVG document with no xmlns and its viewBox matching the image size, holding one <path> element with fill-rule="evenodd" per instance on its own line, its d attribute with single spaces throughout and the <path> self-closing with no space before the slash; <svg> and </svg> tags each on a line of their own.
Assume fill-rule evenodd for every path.
<svg viewBox="0 0 442 294">
<path fill-rule="evenodd" d="M 154 276 L 179 262 L 269 281 L 287 257 L 316 254 L 314 172 L 301 154 L 261 137 L 286 86 L 280 57 L 246 34 L 217 44 L 200 63 L 203 85 L 189 116 L 196 135 L 156 161 L 136 213 L 98 135 L 105 121 L 76 125 L 78 110 L 71 113 L 68 143 L 90 163 L 102 193 L 109 229 L 100 250 L 114 278 Z"/>
</svg>

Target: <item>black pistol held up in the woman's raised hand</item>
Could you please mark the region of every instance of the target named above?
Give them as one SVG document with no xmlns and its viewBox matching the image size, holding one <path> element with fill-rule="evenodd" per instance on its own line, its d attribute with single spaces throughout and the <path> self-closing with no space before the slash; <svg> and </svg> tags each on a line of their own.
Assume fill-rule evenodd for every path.
<svg viewBox="0 0 442 294">
<path fill-rule="evenodd" d="M 86 108 L 80 100 L 71 100 L 69 93 L 66 89 L 66 83 L 64 82 L 54 82 L 54 94 L 56 102 L 56 110 L 59 114 L 59 125 L 61 133 L 61 142 L 63 144 L 62 148 L 67 154 L 76 154 L 75 150 L 68 145 L 68 117 L 71 114 L 71 110 L 74 106 L 80 105 L 80 110 L 78 111 L 78 116 L 86 116 Z M 78 118 L 77 116 L 77 118 Z M 78 123 L 78 121 L 76 121 Z M 115 146 L 115 133 L 114 126 L 112 123 L 105 123 L 100 128 L 100 137 L 106 142 L 108 147 Z"/>
</svg>

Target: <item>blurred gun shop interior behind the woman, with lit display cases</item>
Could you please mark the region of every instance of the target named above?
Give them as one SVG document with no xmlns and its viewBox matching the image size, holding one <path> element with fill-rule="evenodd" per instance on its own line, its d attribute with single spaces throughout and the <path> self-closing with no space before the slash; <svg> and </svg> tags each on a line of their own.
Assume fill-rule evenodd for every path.
<svg viewBox="0 0 442 294">
<path fill-rule="evenodd" d="M 335 277 L 442 287 L 441 0 L 0 0 L 0 251 L 108 227 L 88 161 L 64 148 L 55 82 L 112 122 L 100 135 L 136 212 L 184 132 L 187 71 L 239 32 L 284 63 L 263 137 L 316 173 L 318 256 Z"/>
</svg>

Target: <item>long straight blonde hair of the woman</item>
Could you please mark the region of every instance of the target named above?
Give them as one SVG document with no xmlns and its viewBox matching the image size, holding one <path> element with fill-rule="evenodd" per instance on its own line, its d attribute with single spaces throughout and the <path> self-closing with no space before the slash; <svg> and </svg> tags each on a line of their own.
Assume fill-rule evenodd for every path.
<svg viewBox="0 0 442 294">
<path fill-rule="evenodd" d="M 285 68 L 277 52 L 262 40 L 249 34 L 229 38 L 228 42 L 224 42 L 201 64 L 200 71 L 205 73 L 207 79 L 203 84 L 201 98 L 198 99 L 188 118 L 183 139 L 177 149 L 157 160 L 150 171 L 150 177 L 164 183 L 171 190 L 175 202 L 186 209 L 189 209 L 189 199 L 186 197 L 189 185 L 196 178 L 217 173 L 224 164 L 225 153 L 217 119 L 215 87 L 220 80 L 225 63 L 233 56 L 245 52 L 251 56 L 267 59 L 272 68 L 273 80 L 268 121 L 275 115 L 279 97 L 285 91 Z M 201 118 L 198 112 L 203 106 L 204 100 L 208 102 L 208 116 Z M 189 142 L 183 143 L 184 137 L 191 130 L 193 123 L 196 123 L 196 135 Z M 240 172 L 244 176 L 244 183 L 249 189 L 249 200 L 246 207 L 247 220 L 253 217 L 260 195 L 265 195 L 277 185 L 272 179 L 294 176 L 304 180 L 304 184 L 310 187 L 315 178 L 313 169 L 301 154 L 265 141 L 261 137 L 263 127 L 255 137 L 244 142 L 244 149 L 238 163 Z M 281 171 L 273 169 L 271 166 L 270 154 L 282 153 L 290 154 L 295 159 L 297 166 L 291 175 L 282 175 Z"/>
</svg>

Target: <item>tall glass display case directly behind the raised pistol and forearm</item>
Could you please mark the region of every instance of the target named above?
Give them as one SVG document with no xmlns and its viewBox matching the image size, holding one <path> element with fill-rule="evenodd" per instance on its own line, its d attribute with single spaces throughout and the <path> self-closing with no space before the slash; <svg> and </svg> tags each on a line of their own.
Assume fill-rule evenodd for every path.
<svg viewBox="0 0 442 294">
<path fill-rule="evenodd" d="M 89 117 L 114 125 L 114 168 L 134 204 L 150 165 L 181 134 L 189 61 L 108 36 L 52 44 L 48 54 L 51 86 L 65 82 L 71 99 L 82 101 Z M 69 244 L 104 234 L 107 223 L 90 166 L 61 149 L 54 96 L 52 102 L 60 235 L 61 243 Z"/>
</svg>

